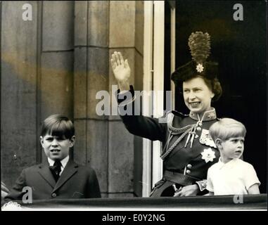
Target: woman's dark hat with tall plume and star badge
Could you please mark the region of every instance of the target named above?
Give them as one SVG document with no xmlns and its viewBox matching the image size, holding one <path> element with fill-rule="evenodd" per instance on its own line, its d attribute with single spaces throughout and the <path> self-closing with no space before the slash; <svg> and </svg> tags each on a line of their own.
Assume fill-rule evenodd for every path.
<svg viewBox="0 0 268 225">
<path fill-rule="evenodd" d="M 210 55 L 210 35 L 203 32 L 192 33 L 189 37 L 189 47 L 193 60 L 177 68 L 171 79 L 176 85 L 194 77 L 215 79 L 218 75 L 218 63 L 207 61 Z"/>
</svg>

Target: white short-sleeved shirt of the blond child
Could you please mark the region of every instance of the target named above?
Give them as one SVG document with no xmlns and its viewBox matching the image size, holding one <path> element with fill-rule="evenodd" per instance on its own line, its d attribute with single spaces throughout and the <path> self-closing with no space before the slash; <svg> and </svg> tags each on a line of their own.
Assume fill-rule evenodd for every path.
<svg viewBox="0 0 268 225">
<path fill-rule="evenodd" d="M 208 191 L 214 195 L 248 194 L 248 188 L 259 184 L 257 174 L 252 165 L 240 159 L 223 163 L 221 158 L 208 169 Z"/>
</svg>

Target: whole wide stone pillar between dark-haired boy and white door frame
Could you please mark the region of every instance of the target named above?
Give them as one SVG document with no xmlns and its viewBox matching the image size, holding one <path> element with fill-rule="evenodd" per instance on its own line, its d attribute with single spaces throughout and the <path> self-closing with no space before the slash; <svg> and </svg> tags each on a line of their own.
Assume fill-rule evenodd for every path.
<svg viewBox="0 0 268 225">
<path fill-rule="evenodd" d="M 133 196 L 134 136 L 118 115 L 96 114 L 101 101 L 96 100 L 96 93 L 108 91 L 110 103 L 114 98 L 113 51 L 128 58 L 132 84 L 136 72 L 142 77 L 143 32 L 139 37 L 135 32 L 135 26 L 141 31 L 142 13 L 136 10 L 141 5 L 135 1 L 75 1 L 74 157 L 96 170 L 103 197 Z"/>
</svg>

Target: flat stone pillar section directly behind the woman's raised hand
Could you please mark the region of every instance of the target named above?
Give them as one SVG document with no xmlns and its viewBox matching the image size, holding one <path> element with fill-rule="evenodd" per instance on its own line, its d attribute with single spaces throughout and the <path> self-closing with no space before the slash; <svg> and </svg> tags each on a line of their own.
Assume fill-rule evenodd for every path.
<svg viewBox="0 0 268 225">
<path fill-rule="evenodd" d="M 131 84 L 136 90 L 142 89 L 143 77 L 142 6 L 142 1 L 110 1 L 109 56 L 120 51 L 128 59 Z M 109 67 L 110 93 L 113 84 L 116 82 Z M 119 116 L 110 116 L 109 120 L 109 197 L 134 196 L 134 136 L 129 134 Z M 140 147 L 139 143 L 136 147 Z"/>
</svg>

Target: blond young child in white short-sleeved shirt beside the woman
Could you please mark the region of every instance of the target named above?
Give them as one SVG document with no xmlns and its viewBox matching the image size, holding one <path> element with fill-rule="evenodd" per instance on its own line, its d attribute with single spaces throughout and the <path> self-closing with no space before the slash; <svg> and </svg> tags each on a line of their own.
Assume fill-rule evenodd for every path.
<svg viewBox="0 0 268 225">
<path fill-rule="evenodd" d="M 243 154 L 245 126 L 224 118 L 210 127 L 210 136 L 220 152 L 219 162 L 208 169 L 209 195 L 259 194 L 260 181 L 252 165 L 239 158 Z"/>
</svg>

